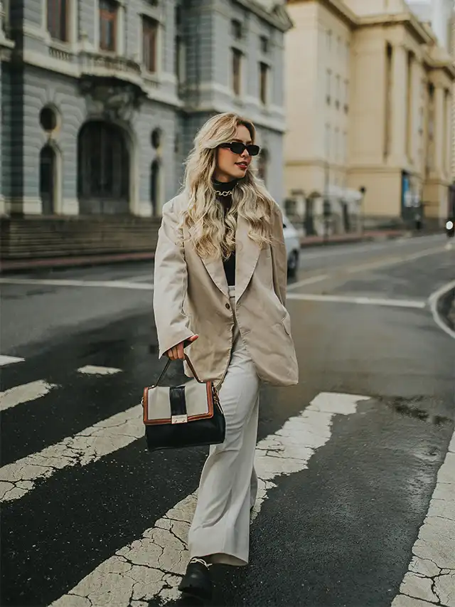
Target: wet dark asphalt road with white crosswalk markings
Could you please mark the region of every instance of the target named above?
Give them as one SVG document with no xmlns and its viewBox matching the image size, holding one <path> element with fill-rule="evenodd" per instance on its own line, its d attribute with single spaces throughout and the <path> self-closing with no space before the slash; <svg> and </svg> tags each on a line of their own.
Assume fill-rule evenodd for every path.
<svg viewBox="0 0 455 607">
<path fill-rule="evenodd" d="M 214 569 L 213 605 L 455 606 L 455 336 L 429 302 L 455 279 L 444 245 L 302 251 L 301 381 L 262 391 L 251 562 Z M 1 605 L 185 604 L 205 449 L 146 452 L 151 264 L 0 286 Z"/>
</svg>

